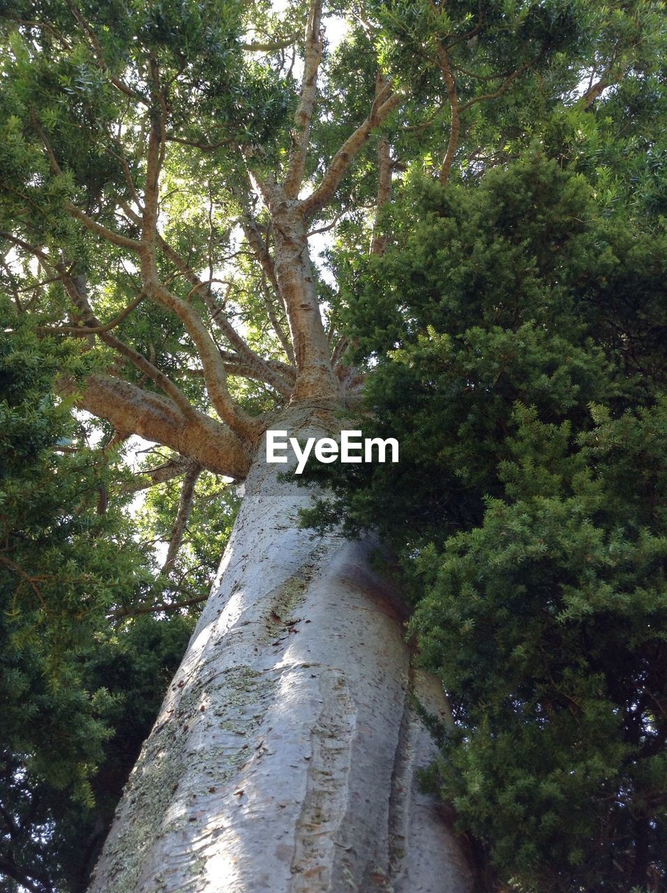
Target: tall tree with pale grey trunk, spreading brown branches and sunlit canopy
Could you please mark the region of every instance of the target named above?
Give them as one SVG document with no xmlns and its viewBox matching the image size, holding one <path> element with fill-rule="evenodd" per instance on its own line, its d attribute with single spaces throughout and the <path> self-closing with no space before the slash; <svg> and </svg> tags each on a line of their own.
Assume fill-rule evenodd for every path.
<svg viewBox="0 0 667 893">
<path fill-rule="evenodd" d="M 309 238 L 338 228 L 348 254 L 381 255 L 394 179 L 474 176 L 558 110 L 646 77 L 659 4 L 2 13 L 17 318 L 90 355 L 61 396 L 173 452 L 155 475 L 185 475 L 177 538 L 200 469 L 246 489 L 91 891 L 467 889 L 461 841 L 414 778 L 433 746 L 413 697 L 446 716 L 442 691 L 368 546 L 299 528 L 310 498 L 265 463 L 263 435 L 336 433 L 363 391 L 345 290 Z"/>
</svg>

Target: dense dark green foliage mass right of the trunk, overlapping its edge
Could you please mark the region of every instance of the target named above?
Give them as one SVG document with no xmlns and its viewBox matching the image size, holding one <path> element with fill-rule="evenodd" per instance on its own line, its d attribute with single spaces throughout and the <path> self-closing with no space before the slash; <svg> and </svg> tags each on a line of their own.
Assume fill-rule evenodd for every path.
<svg viewBox="0 0 667 893">
<path fill-rule="evenodd" d="M 429 784 L 485 889 L 667 867 L 667 239 L 625 213 L 541 151 L 420 181 L 350 296 L 401 460 L 344 466 L 310 520 L 346 506 L 402 555 L 455 721 Z"/>
</svg>

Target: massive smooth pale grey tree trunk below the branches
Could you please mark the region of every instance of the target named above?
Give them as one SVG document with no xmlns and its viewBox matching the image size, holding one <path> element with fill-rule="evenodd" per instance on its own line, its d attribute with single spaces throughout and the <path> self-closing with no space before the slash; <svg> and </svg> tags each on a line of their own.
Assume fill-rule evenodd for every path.
<svg viewBox="0 0 667 893">
<path fill-rule="evenodd" d="M 468 891 L 414 777 L 434 746 L 410 696 L 445 715 L 442 690 L 368 547 L 301 530 L 308 490 L 264 459 L 90 893 Z"/>
</svg>

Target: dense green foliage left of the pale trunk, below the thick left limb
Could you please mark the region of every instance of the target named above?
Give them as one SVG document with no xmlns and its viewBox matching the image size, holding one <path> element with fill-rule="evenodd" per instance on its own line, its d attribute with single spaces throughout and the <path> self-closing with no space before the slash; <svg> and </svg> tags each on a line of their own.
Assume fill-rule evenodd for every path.
<svg viewBox="0 0 667 893">
<path fill-rule="evenodd" d="M 0 334 L 4 893 L 85 889 L 192 629 L 182 612 L 131 617 L 158 594 L 169 600 L 172 584 L 154 580 L 152 553 L 122 511 L 129 496 L 107 506 L 106 491 L 128 475 L 119 480 L 117 450 L 87 447 L 88 426 L 54 400 L 65 370 L 81 371 L 71 346 L 39 342 L 24 323 Z M 173 497 L 163 501 L 154 525 L 173 513 Z M 207 530 L 204 519 L 198 536 Z M 220 513 L 216 530 L 227 530 Z M 205 591 L 211 564 L 201 544 L 180 555 L 179 589 Z M 110 622 L 114 612 L 129 619 Z"/>
</svg>

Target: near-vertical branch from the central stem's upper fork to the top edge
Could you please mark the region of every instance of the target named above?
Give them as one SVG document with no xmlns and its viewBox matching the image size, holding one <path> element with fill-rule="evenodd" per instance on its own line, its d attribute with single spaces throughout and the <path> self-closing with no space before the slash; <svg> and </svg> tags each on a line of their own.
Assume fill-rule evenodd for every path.
<svg viewBox="0 0 667 893">
<path fill-rule="evenodd" d="M 304 77 L 294 116 L 292 147 L 289 153 L 288 174 L 284 190 L 288 198 L 296 198 L 304 179 L 305 159 L 308 153 L 308 137 L 313 121 L 317 97 L 317 71 L 320 67 L 323 41 L 320 33 L 322 0 L 311 0 L 308 23 L 305 29 Z"/>
</svg>

